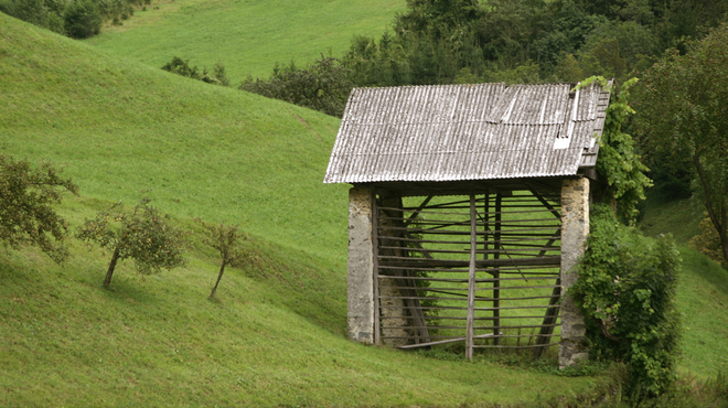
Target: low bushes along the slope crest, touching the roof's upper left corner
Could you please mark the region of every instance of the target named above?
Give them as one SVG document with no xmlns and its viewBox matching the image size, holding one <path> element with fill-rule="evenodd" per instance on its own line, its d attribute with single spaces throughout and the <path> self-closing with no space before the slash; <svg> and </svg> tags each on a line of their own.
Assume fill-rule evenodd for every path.
<svg viewBox="0 0 728 408">
<path fill-rule="evenodd" d="M 341 117 L 353 86 L 349 69 L 339 60 L 322 55 L 308 68 L 291 62 L 282 68 L 276 66 L 269 79 L 248 77 L 240 89 Z"/>
</svg>

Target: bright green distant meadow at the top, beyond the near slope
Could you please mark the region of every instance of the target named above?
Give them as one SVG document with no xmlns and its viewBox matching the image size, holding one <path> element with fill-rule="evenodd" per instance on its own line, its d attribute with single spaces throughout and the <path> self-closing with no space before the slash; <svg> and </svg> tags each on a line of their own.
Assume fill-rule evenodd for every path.
<svg viewBox="0 0 728 408">
<path fill-rule="evenodd" d="M 160 67 L 180 56 L 221 62 L 233 84 L 268 76 L 276 62 L 299 65 L 329 51 L 341 56 L 353 35 L 378 35 L 405 0 L 162 0 L 88 43 Z"/>
</svg>

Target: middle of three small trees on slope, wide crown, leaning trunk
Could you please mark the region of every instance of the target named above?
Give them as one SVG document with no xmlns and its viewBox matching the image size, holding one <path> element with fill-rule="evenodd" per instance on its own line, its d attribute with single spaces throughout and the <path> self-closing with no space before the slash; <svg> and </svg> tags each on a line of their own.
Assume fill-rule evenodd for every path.
<svg viewBox="0 0 728 408">
<path fill-rule="evenodd" d="M 142 198 L 131 214 L 125 213 L 118 203 L 96 214 L 95 218 L 86 219 L 78 230 L 77 238 L 96 243 L 113 253 L 104 287 L 108 288 L 116 264 L 121 259 L 133 259 L 142 275 L 158 273 L 162 268 L 172 269 L 184 264 L 183 232 L 170 226 L 167 223 L 169 215 L 161 214 L 149 202 L 149 198 Z"/>
</svg>

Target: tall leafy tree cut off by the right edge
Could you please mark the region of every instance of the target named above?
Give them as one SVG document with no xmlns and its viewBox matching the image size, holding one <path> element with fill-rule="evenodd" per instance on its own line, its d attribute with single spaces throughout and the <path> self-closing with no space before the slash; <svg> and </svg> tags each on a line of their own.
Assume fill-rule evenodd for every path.
<svg viewBox="0 0 728 408">
<path fill-rule="evenodd" d="M 668 51 L 644 75 L 639 129 L 663 168 L 684 169 L 728 259 L 728 24 L 688 52 Z"/>
</svg>

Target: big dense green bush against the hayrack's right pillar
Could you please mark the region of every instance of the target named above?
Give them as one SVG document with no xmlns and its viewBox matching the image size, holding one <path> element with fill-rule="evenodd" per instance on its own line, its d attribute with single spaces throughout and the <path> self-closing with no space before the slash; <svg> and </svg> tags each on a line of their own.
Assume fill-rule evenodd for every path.
<svg viewBox="0 0 728 408">
<path fill-rule="evenodd" d="M 571 289 L 586 316 L 590 356 L 627 363 L 628 395 L 660 395 L 681 354 L 678 253 L 671 237 L 647 239 L 608 206 L 595 206 L 590 227 Z"/>
</svg>

